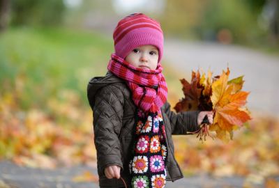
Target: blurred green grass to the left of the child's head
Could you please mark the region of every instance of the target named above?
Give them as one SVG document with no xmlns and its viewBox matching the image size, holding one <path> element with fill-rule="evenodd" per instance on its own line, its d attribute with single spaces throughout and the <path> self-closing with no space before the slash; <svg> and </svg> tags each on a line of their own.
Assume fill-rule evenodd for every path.
<svg viewBox="0 0 279 188">
<path fill-rule="evenodd" d="M 0 36 L 0 94 L 18 92 L 23 109 L 45 107 L 63 89 L 87 103 L 89 78 L 106 72 L 109 41 L 85 31 L 10 29 Z"/>
</svg>

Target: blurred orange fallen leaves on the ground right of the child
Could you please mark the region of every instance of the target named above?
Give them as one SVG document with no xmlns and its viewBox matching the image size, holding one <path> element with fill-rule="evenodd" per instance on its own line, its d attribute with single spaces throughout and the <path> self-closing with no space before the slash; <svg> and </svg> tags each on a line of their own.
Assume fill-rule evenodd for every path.
<svg viewBox="0 0 279 188">
<path fill-rule="evenodd" d="M 279 175 L 278 132 L 278 118 L 258 114 L 228 143 L 212 139 L 201 143 L 194 135 L 174 136 L 175 155 L 186 175 L 240 175 L 248 182 L 264 183 Z"/>
</svg>

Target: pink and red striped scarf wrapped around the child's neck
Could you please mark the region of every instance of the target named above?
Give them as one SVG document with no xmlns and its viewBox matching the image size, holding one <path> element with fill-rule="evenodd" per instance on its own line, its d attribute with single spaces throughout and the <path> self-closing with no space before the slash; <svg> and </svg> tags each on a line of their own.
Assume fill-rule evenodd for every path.
<svg viewBox="0 0 279 188">
<path fill-rule="evenodd" d="M 127 81 L 137 107 L 144 112 L 160 111 L 160 107 L 167 100 L 167 84 L 160 63 L 156 70 L 143 70 L 135 68 L 123 58 L 112 54 L 107 69 Z"/>
</svg>

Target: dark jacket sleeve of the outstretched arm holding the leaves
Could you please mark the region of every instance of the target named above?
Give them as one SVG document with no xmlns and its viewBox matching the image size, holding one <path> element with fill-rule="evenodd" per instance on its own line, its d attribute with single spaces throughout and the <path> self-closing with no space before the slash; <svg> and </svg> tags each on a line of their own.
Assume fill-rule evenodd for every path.
<svg viewBox="0 0 279 188">
<path fill-rule="evenodd" d="M 199 111 L 182 111 L 175 113 L 171 111 L 169 102 L 165 102 L 164 111 L 167 118 L 169 118 L 172 134 L 189 134 L 189 132 L 199 130 L 199 125 L 197 125 Z"/>
</svg>

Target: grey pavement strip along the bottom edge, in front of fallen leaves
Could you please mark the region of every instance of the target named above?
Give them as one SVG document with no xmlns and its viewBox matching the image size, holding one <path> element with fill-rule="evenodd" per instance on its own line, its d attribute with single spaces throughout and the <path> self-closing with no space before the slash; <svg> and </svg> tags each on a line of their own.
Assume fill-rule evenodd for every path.
<svg viewBox="0 0 279 188">
<path fill-rule="evenodd" d="M 16 166 L 9 161 L 0 161 L 0 188 L 97 188 L 94 182 L 74 182 L 73 177 L 89 171 L 97 175 L 96 169 L 88 166 L 73 166 L 55 170 L 31 169 Z M 214 178 L 208 175 L 198 175 L 167 182 L 166 187 L 176 188 L 215 188 L 243 187 L 244 178 L 228 177 Z M 253 187 L 262 187 L 262 184 Z"/>
</svg>

